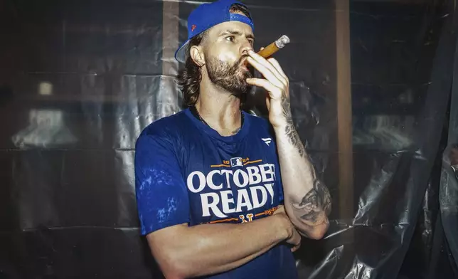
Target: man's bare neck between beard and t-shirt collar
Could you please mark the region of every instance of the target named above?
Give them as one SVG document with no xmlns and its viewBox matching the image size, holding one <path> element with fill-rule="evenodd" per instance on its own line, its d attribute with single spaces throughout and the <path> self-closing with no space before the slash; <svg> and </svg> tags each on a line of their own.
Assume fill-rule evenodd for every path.
<svg viewBox="0 0 458 279">
<path fill-rule="evenodd" d="M 201 83 L 200 91 L 198 114 L 220 135 L 235 135 L 242 126 L 240 99 L 213 83 Z"/>
</svg>

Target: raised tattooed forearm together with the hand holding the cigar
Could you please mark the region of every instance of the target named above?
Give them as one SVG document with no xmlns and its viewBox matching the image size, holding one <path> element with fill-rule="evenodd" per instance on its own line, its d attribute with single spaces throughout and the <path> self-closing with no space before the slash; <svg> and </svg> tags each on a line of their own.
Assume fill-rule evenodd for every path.
<svg viewBox="0 0 458 279">
<path fill-rule="evenodd" d="M 314 168 L 294 128 L 289 102 L 289 79 L 275 58 L 248 51 L 247 62 L 263 75 L 247 83 L 267 90 L 269 121 L 275 130 L 284 189 L 284 208 L 298 231 L 321 238 L 328 228 L 331 200 L 326 186 L 316 180 Z"/>
</svg>

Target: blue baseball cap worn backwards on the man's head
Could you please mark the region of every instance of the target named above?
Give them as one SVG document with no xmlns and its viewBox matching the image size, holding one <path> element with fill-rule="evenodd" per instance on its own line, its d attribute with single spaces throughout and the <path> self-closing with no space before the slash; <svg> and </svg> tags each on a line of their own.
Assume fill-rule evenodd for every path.
<svg viewBox="0 0 458 279">
<path fill-rule="evenodd" d="M 230 6 L 233 4 L 240 4 L 245 6 L 239 1 L 218 0 L 210 4 L 201 4 L 194 11 L 192 11 L 188 17 L 188 39 L 176 51 L 175 59 L 184 63 L 186 60 L 186 51 L 191 38 L 219 23 L 226 21 L 240 21 L 247 23 L 249 26 L 251 26 L 252 30 L 255 31 L 255 24 L 252 22 L 252 20 L 241 14 L 231 14 L 229 12 Z"/>
</svg>

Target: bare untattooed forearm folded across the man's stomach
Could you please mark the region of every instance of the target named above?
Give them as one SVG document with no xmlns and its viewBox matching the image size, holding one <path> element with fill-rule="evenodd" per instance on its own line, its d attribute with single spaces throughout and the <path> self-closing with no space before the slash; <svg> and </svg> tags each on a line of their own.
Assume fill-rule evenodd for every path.
<svg viewBox="0 0 458 279">
<path fill-rule="evenodd" d="M 169 233 L 169 239 L 174 241 L 167 244 L 166 253 L 155 251 L 154 243 L 151 248 L 155 257 L 162 254 L 156 260 L 168 278 L 222 273 L 257 258 L 287 239 L 289 231 L 285 222 L 289 222 L 287 216 L 274 215 L 247 223 L 183 226 L 174 230 L 172 236 Z"/>
</svg>

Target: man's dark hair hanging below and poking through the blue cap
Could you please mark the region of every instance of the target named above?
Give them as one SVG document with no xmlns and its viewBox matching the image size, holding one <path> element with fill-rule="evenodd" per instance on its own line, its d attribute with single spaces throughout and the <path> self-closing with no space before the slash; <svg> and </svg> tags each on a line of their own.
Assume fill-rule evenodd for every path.
<svg viewBox="0 0 458 279">
<path fill-rule="evenodd" d="M 248 11 L 248 9 L 243 5 L 233 4 L 233 6 L 230 7 L 229 11 L 230 13 L 235 13 L 239 11 L 245 14 L 245 16 L 247 16 L 248 19 L 252 19 L 250 11 Z M 194 60 L 193 58 L 191 58 L 189 51 L 191 51 L 192 46 L 199 46 L 202 43 L 202 41 L 205 40 L 207 33 L 207 31 L 203 31 L 197 36 L 191 38 L 191 41 L 189 41 L 188 44 L 188 49 L 186 50 L 188 58 L 186 58 L 184 69 L 181 70 L 178 75 L 177 84 L 179 85 L 181 93 L 183 93 L 184 104 L 187 106 L 192 106 L 196 104 L 200 93 L 199 87 L 202 79 L 201 67 L 194 63 Z"/>
</svg>

